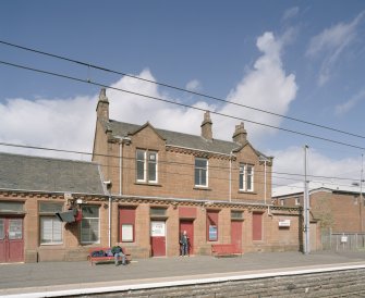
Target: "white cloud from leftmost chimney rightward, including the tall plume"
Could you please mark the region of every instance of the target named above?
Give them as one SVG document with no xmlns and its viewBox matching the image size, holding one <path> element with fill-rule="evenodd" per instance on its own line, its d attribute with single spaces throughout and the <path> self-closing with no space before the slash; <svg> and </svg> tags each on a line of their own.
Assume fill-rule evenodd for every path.
<svg viewBox="0 0 365 298">
<path fill-rule="evenodd" d="M 285 39 L 288 39 L 285 37 Z M 281 62 L 281 49 L 283 41 L 275 38 L 271 33 L 265 33 L 257 38 L 257 48 L 263 53 L 254 64 L 254 69 L 248 71 L 245 77 L 228 95 L 228 101 L 256 107 L 258 109 L 285 114 L 289 104 L 294 100 L 297 86 L 294 75 L 285 75 Z M 150 71 L 145 70 L 141 77 L 148 80 L 155 80 Z M 198 86 L 197 83 L 192 84 Z M 130 77 L 123 77 L 112 87 L 138 90 L 139 94 L 148 95 L 155 98 L 162 98 L 170 101 L 179 99 L 167 98 L 157 85 L 147 82 L 135 80 Z M 149 121 L 156 127 L 178 131 L 198 135 L 203 112 L 186 108 L 177 107 L 170 103 L 147 99 L 144 97 L 123 94 L 118 90 L 108 90 L 108 97 L 111 102 L 110 115 L 114 120 L 122 122 L 132 122 L 136 124 Z M 246 108 L 232 104 L 226 104 L 217 108 L 204 101 L 196 102 L 194 107 L 203 110 L 211 110 L 217 113 L 233 115 L 239 119 L 247 119 L 255 122 L 261 122 L 269 125 L 280 125 L 281 119 L 269 114 L 253 112 Z M 241 121 L 238 119 L 222 117 L 211 114 L 214 122 L 214 137 L 231 140 L 234 127 Z M 272 129 L 245 123 L 251 140 L 258 141 L 259 138 L 271 134 Z"/>
</svg>

